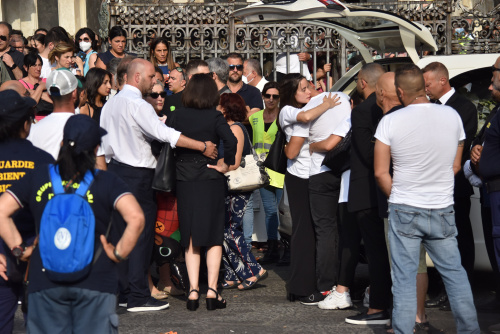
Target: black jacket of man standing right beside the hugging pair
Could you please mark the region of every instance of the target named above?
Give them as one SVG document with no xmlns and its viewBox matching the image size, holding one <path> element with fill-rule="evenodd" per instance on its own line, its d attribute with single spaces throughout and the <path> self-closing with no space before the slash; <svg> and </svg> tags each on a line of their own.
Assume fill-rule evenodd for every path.
<svg viewBox="0 0 500 334">
<path fill-rule="evenodd" d="M 382 118 L 375 93 L 351 113 L 351 178 L 347 207 L 350 212 L 377 207 L 377 185 L 373 170 L 375 130 Z"/>
</svg>

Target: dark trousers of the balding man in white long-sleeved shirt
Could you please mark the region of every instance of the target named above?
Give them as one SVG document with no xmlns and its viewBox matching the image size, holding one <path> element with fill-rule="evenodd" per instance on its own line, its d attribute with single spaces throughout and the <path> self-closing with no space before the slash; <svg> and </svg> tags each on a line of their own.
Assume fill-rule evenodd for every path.
<svg viewBox="0 0 500 334">
<path fill-rule="evenodd" d="M 144 305 L 151 297 L 148 283 L 148 270 L 153 254 L 154 229 L 156 222 L 156 200 L 151 188 L 154 169 L 136 168 L 124 164 L 114 163 L 108 165 L 108 170 L 122 178 L 130 187 L 132 194 L 139 202 L 146 223 L 137 244 L 129 255 L 127 261 L 118 265 L 120 300 L 126 296 L 127 307 Z M 113 214 L 112 236 L 116 242 L 119 240 L 126 223 L 118 212 Z"/>
</svg>

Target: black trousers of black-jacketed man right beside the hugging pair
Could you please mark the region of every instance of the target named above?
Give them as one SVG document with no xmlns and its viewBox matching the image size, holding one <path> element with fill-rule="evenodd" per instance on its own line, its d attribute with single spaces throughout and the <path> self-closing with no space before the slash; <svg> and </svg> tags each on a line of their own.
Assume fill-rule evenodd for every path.
<svg viewBox="0 0 500 334">
<path fill-rule="evenodd" d="M 377 208 L 355 212 L 363 237 L 370 276 L 370 308 L 387 310 L 391 306 L 391 269 L 385 243 L 384 220 Z"/>
</svg>

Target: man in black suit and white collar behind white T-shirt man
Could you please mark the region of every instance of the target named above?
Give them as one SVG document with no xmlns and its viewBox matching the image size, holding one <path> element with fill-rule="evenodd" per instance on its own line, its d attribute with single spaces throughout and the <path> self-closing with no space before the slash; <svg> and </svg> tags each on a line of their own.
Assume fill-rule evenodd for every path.
<svg viewBox="0 0 500 334">
<path fill-rule="evenodd" d="M 437 104 L 445 104 L 455 109 L 465 130 L 464 152 L 462 154 L 462 166 L 470 156 L 470 146 L 477 131 L 477 109 L 467 98 L 460 95 L 450 85 L 448 69 L 440 62 L 433 62 L 422 70 L 425 80 L 425 92 L 427 96 Z M 470 215 L 470 196 L 474 193 L 472 186 L 464 176 L 463 170 L 455 175 L 455 190 L 453 200 L 455 202 L 455 221 L 458 230 L 457 242 L 462 266 L 471 280 L 474 270 L 474 236 L 472 235 L 472 225 Z M 443 292 L 435 299 L 426 302 L 426 307 L 441 307 L 442 310 L 451 310 L 446 292 Z"/>
</svg>

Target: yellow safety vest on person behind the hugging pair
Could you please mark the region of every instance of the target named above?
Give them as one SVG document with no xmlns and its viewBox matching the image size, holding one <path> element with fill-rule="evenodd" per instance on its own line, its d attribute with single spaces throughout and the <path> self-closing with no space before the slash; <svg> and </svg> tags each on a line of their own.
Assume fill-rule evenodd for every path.
<svg viewBox="0 0 500 334">
<path fill-rule="evenodd" d="M 276 125 L 276 120 L 271 124 L 267 132 L 265 131 L 264 125 L 264 110 L 258 111 L 249 117 L 248 121 L 252 126 L 253 130 L 253 148 L 255 152 L 260 156 L 262 153 L 269 153 L 271 145 L 274 143 L 276 138 L 276 133 L 278 132 L 278 126 Z M 271 179 L 270 185 L 276 188 L 283 188 L 283 183 L 285 182 L 285 175 L 275 172 L 269 168 L 266 168 L 269 178 Z"/>
</svg>

